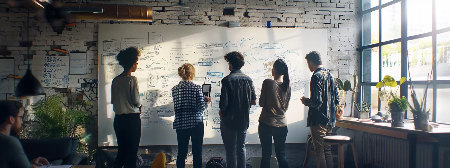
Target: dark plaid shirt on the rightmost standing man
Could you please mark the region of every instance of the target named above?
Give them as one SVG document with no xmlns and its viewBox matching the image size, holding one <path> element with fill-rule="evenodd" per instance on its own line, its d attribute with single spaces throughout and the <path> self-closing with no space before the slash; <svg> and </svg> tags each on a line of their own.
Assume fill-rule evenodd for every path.
<svg viewBox="0 0 450 168">
<path fill-rule="evenodd" d="M 334 105 L 339 104 L 336 79 L 327 69 L 318 68 L 311 77 L 310 88 L 311 99 L 305 99 L 305 105 L 309 107 L 306 126 L 333 128 L 336 123 Z"/>
</svg>

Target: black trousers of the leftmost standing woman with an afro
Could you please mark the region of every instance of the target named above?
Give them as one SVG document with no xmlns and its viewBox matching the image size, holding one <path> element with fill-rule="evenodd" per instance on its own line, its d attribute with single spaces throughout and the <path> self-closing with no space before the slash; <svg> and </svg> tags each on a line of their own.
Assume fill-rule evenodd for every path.
<svg viewBox="0 0 450 168">
<path fill-rule="evenodd" d="M 116 114 L 113 125 L 117 138 L 114 168 L 135 168 L 141 135 L 139 113 Z"/>
</svg>

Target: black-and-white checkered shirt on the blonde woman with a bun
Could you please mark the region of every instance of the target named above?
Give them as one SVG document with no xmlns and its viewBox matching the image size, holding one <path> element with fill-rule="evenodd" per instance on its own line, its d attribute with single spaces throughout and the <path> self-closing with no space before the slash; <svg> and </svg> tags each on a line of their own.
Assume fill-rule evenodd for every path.
<svg viewBox="0 0 450 168">
<path fill-rule="evenodd" d="M 208 104 L 201 86 L 181 81 L 172 88 L 172 98 L 175 107 L 173 129 L 189 129 L 203 122 L 203 110 L 208 108 Z"/>
</svg>

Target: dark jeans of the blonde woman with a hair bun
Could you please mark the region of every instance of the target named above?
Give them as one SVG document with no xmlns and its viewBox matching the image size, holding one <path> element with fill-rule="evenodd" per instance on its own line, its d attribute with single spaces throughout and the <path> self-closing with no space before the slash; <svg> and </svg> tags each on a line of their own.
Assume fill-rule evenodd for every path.
<svg viewBox="0 0 450 168">
<path fill-rule="evenodd" d="M 184 168 L 186 155 L 188 155 L 189 139 L 192 140 L 193 168 L 202 167 L 203 122 L 189 129 L 177 129 L 178 155 L 176 156 L 176 168 Z"/>
</svg>

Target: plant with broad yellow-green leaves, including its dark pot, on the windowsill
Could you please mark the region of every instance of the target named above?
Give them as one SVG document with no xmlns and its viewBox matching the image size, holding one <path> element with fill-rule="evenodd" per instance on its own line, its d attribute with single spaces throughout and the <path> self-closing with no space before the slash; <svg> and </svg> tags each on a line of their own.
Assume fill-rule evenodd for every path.
<svg viewBox="0 0 450 168">
<path fill-rule="evenodd" d="M 406 81 L 405 77 L 400 78 L 400 85 Z M 392 92 L 392 87 L 398 86 L 397 81 L 389 75 L 384 76 L 381 82 L 378 82 L 376 87 L 383 88 L 378 91 L 378 97 L 381 101 L 387 100 L 389 111 L 391 112 L 392 126 L 402 127 L 404 125 L 403 118 L 405 117 L 405 111 L 408 109 L 408 101 L 405 97 L 400 98 L 396 95 L 396 92 Z M 386 89 L 389 87 L 389 90 Z"/>
</svg>

